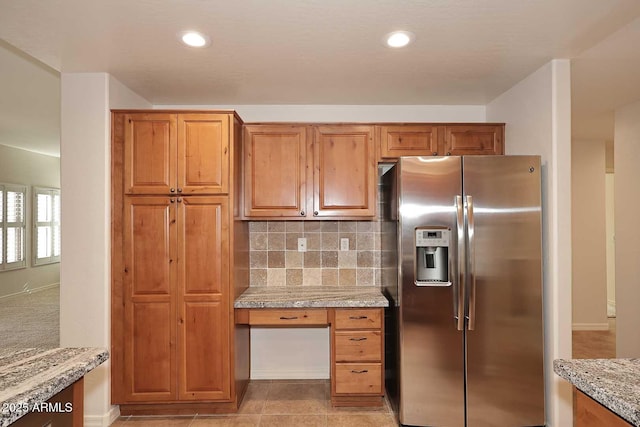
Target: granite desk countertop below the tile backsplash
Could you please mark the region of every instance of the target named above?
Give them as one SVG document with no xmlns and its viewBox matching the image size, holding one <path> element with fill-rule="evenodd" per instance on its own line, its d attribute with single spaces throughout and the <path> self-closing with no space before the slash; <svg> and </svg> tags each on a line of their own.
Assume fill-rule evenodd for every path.
<svg viewBox="0 0 640 427">
<path fill-rule="evenodd" d="M 234 308 L 387 307 L 377 287 L 254 286 L 240 295 Z"/>
</svg>

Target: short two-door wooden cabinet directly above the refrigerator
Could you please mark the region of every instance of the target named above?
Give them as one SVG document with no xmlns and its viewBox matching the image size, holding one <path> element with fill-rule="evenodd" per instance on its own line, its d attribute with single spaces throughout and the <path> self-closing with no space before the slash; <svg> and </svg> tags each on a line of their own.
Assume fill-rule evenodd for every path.
<svg viewBox="0 0 640 427">
<path fill-rule="evenodd" d="M 399 124 L 376 126 L 379 157 L 504 154 L 504 124 Z"/>
</svg>

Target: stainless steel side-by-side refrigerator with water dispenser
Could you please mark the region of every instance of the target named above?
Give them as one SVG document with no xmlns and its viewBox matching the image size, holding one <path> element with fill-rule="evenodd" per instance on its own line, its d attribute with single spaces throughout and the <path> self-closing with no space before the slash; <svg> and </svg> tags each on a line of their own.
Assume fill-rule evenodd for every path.
<svg viewBox="0 0 640 427">
<path fill-rule="evenodd" d="M 382 176 L 401 424 L 545 424 L 540 172 L 538 156 L 403 157 Z"/>
</svg>

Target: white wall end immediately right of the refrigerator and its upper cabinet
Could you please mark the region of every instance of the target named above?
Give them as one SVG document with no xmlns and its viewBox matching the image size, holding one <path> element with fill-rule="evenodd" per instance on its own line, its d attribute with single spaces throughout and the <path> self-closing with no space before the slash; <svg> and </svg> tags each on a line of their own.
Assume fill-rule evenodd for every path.
<svg viewBox="0 0 640 427">
<path fill-rule="evenodd" d="M 568 60 L 554 60 L 487 105 L 506 123 L 506 154 L 542 158 L 547 425 L 573 424 L 571 386 L 553 360 L 571 358 L 571 93 Z"/>
</svg>

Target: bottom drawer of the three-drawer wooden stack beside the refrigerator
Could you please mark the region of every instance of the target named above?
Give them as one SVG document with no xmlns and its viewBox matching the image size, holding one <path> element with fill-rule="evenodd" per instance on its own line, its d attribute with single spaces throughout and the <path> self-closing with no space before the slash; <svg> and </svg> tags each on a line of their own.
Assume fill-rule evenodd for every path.
<svg viewBox="0 0 640 427">
<path fill-rule="evenodd" d="M 336 363 L 335 394 L 382 395 L 381 363 Z"/>
</svg>

